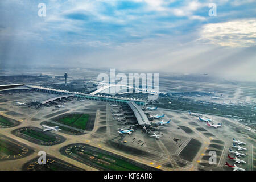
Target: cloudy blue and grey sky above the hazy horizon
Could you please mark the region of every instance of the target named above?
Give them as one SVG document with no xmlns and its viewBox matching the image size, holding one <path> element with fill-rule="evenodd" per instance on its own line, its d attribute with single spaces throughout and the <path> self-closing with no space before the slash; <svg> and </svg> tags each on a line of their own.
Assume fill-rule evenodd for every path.
<svg viewBox="0 0 256 182">
<path fill-rule="evenodd" d="M 38 16 L 39 3 L 46 16 Z M 209 16 L 210 3 L 216 16 Z M 208 73 L 256 81 L 255 0 L 0 2 L 0 67 Z"/>
</svg>

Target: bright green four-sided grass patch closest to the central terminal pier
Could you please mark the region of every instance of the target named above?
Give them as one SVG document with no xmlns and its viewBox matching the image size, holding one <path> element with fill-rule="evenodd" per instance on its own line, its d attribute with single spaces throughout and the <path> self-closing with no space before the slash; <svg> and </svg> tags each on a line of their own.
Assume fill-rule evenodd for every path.
<svg viewBox="0 0 256 182">
<path fill-rule="evenodd" d="M 87 122 L 89 121 L 89 114 L 69 114 L 57 120 L 57 122 L 64 125 L 76 127 L 77 129 L 86 129 Z"/>
</svg>

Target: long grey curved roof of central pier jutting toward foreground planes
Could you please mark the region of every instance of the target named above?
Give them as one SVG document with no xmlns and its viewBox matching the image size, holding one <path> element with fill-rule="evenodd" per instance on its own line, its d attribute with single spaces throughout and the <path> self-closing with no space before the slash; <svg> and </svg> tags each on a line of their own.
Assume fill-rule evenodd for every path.
<svg viewBox="0 0 256 182">
<path fill-rule="evenodd" d="M 139 125 L 150 125 L 150 121 L 148 120 L 146 114 L 143 112 L 141 107 L 139 107 L 134 102 L 128 102 L 128 105 L 131 107 L 131 110 L 133 110 Z"/>
</svg>

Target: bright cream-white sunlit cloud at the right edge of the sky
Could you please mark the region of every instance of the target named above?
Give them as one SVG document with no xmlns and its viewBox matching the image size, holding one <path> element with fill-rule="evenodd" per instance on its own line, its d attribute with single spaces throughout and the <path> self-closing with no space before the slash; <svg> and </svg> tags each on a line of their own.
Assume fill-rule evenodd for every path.
<svg viewBox="0 0 256 182">
<path fill-rule="evenodd" d="M 221 46 L 254 46 L 256 44 L 256 19 L 205 24 L 201 30 L 200 40 Z"/>
</svg>

